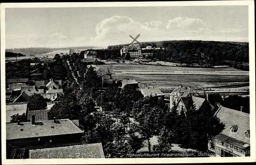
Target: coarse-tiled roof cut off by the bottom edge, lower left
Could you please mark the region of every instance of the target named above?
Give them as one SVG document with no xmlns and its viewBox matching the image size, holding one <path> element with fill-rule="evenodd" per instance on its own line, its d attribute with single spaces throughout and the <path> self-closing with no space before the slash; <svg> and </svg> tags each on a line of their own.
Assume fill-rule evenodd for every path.
<svg viewBox="0 0 256 165">
<path fill-rule="evenodd" d="M 104 158 L 101 143 L 29 150 L 30 159 Z"/>
</svg>

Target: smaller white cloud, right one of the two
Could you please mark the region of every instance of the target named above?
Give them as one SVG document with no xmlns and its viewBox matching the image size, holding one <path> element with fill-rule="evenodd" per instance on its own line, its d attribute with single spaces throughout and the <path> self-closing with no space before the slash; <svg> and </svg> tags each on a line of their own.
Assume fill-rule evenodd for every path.
<svg viewBox="0 0 256 165">
<path fill-rule="evenodd" d="M 176 17 L 166 25 L 168 30 L 198 31 L 205 29 L 205 22 L 198 18 Z"/>
</svg>

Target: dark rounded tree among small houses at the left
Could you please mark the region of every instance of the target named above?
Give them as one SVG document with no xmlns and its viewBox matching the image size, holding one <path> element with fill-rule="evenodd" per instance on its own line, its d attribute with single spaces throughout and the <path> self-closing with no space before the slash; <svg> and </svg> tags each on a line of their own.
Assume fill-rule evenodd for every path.
<svg viewBox="0 0 256 165">
<path fill-rule="evenodd" d="M 45 99 L 40 94 L 34 94 L 30 97 L 30 100 L 28 102 L 28 110 L 39 110 L 39 109 L 45 109 L 47 107 L 47 101 L 48 99 Z"/>
</svg>

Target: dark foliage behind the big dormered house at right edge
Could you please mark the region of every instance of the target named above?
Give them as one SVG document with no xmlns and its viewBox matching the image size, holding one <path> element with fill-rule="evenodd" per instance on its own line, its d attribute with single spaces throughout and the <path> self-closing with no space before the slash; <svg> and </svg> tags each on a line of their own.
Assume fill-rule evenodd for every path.
<svg viewBox="0 0 256 165">
<path fill-rule="evenodd" d="M 250 97 L 230 95 L 224 99 L 223 106 L 230 109 L 236 109 L 237 111 L 240 111 L 242 108 L 242 112 L 249 114 L 250 113 Z"/>
</svg>

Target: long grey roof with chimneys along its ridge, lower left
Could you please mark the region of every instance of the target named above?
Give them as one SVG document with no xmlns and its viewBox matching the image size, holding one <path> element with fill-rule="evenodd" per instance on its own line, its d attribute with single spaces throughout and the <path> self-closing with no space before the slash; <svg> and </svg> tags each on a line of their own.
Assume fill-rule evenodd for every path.
<svg viewBox="0 0 256 165">
<path fill-rule="evenodd" d="M 44 125 L 32 125 L 31 122 L 22 122 L 24 125 L 18 125 L 17 123 L 6 123 L 6 140 L 83 132 L 69 119 L 60 119 L 59 121 L 59 124 L 54 123 L 53 120 L 41 121 Z M 20 129 L 23 129 L 23 131 Z"/>
</svg>

